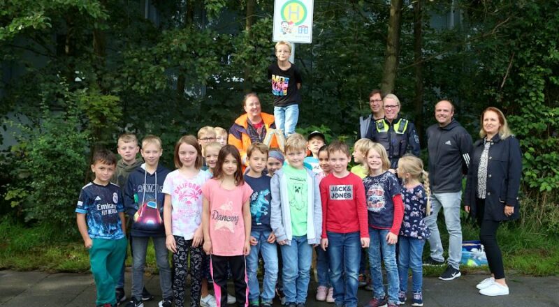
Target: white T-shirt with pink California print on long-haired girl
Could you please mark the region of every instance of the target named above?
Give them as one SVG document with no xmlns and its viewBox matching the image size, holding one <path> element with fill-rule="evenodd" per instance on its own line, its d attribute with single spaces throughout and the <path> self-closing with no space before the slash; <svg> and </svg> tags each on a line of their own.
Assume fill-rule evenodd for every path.
<svg viewBox="0 0 559 307">
<path fill-rule="evenodd" d="M 185 240 L 194 237 L 194 232 L 202 223 L 202 186 L 210 177 L 212 174 L 205 170 L 192 178 L 174 170 L 165 178 L 162 192 L 170 195 L 173 235 Z"/>
</svg>

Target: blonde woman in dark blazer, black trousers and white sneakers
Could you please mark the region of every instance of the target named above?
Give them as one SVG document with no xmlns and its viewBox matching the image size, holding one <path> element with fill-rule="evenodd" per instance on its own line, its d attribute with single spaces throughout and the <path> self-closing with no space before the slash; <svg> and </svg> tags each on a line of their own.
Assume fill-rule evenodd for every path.
<svg viewBox="0 0 559 307">
<path fill-rule="evenodd" d="M 520 144 L 501 110 L 481 113 L 481 140 L 474 143 L 467 172 L 465 210 L 477 218 L 479 239 L 485 247 L 491 278 L 477 285 L 480 294 L 507 295 L 497 229 L 502 221 L 518 218 L 518 188 L 522 173 Z"/>
</svg>

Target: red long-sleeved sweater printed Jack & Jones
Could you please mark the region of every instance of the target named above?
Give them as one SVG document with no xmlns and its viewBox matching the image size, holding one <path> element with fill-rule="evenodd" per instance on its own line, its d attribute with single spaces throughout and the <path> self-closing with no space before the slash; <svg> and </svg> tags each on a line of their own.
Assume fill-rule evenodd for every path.
<svg viewBox="0 0 559 307">
<path fill-rule="evenodd" d="M 356 174 L 337 178 L 329 174 L 320 182 L 322 200 L 322 238 L 326 231 L 347 234 L 360 232 L 361 238 L 368 238 L 367 206 L 365 187 Z"/>
</svg>

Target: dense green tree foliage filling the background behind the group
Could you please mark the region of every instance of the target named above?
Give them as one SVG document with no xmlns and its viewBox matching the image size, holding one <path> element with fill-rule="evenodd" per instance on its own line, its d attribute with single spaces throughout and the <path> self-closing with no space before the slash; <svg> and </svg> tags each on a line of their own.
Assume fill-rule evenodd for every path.
<svg viewBox="0 0 559 307">
<path fill-rule="evenodd" d="M 91 149 L 114 149 L 125 130 L 140 138 L 159 135 L 163 162 L 173 165 L 178 137 L 201 126 L 231 126 L 244 91 L 259 93 L 263 111 L 271 113 L 272 2 L 150 1 L 148 11 L 139 1 L 3 2 L 0 66 L 12 77 L 0 83 L 0 117 L 27 129 L 24 145 L 6 156 L 7 165 L 15 165 L 13 177 L 4 178 L 10 181 L 7 203 L 21 204 L 54 184 L 38 181 L 39 173 L 31 181 L 43 186 L 21 177 L 52 157 L 45 151 L 39 158 L 31 147 L 45 149 L 55 137 L 68 143 L 56 148 L 68 149 L 59 155 L 80 168 L 66 172 L 80 186 Z M 481 111 L 502 108 L 521 140 L 526 197 L 547 195 L 546 207 L 525 218 L 559 227 L 550 218 L 559 188 L 559 0 L 421 1 L 419 21 L 414 3 L 401 9 L 398 68 L 392 70 L 402 114 L 427 127 L 434 123 L 433 105 L 450 98 L 456 119 L 477 135 Z M 354 140 L 358 117 L 369 112 L 368 93 L 382 85 L 390 9 L 387 1 L 314 1 L 313 43 L 298 44 L 295 52 L 303 72 L 302 131 L 327 127 L 329 135 Z M 414 39 L 419 25 L 421 46 Z M 418 75 L 422 103 L 414 99 Z M 47 141 L 49 134 L 55 136 Z M 78 153 L 82 164 L 73 160 Z M 66 203 L 78 190 L 68 188 Z"/>
</svg>

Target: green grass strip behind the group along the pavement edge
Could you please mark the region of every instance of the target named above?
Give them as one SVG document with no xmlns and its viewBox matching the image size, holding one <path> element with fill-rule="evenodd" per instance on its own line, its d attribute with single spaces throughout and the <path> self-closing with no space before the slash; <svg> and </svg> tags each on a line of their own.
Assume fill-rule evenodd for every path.
<svg viewBox="0 0 559 307">
<path fill-rule="evenodd" d="M 445 253 L 448 253 L 449 237 L 444 218 L 440 218 L 439 222 L 442 243 Z M 470 223 L 463 223 L 462 226 L 464 240 L 478 239 L 478 227 Z M 507 274 L 559 275 L 558 234 L 538 233 L 520 227 L 518 223 L 505 223 L 498 230 L 498 241 Z M 423 255 L 429 255 L 428 244 L 423 249 Z M 131 261 L 131 257 L 127 257 L 126 265 L 131 266 Z M 59 231 L 49 225 L 25 227 L 4 218 L 0 221 L 0 269 L 87 272 L 89 255 L 80 237 L 61 236 Z M 423 267 L 423 273 L 435 277 L 440 276 L 444 269 Z M 460 270 L 463 274 L 488 273 L 487 267 L 462 266 Z M 152 241 L 147 246 L 146 272 L 157 274 Z"/>
</svg>

